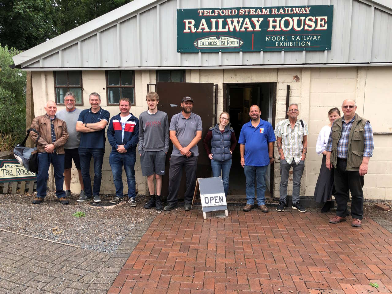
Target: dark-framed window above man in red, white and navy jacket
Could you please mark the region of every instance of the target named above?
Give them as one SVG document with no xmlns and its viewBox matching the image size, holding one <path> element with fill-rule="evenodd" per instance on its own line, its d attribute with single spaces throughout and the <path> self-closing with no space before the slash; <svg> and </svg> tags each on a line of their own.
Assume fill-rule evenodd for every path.
<svg viewBox="0 0 392 294">
<path fill-rule="evenodd" d="M 106 94 L 108 105 L 118 105 L 120 98 L 128 98 L 135 105 L 135 72 L 106 71 Z"/>
</svg>

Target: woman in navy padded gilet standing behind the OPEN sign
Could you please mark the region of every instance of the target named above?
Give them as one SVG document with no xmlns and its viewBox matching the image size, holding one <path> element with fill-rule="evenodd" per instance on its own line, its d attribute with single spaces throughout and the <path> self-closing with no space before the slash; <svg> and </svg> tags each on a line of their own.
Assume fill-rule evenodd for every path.
<svg viewBox="0 0 392 294">
<path fill-rule="evenodd" d="M 231 168 L 231 154 L 236 147 L 237 139 L 234 131 L 229 126 L 230 116 L 223 112 L 219 116 L 219 123 L 210 128 L 204 138 L 205 152 L 211 159 L 212 175 L 222 175 L 225 194 L 229 192 L 229 174 Z"/>
</svg>

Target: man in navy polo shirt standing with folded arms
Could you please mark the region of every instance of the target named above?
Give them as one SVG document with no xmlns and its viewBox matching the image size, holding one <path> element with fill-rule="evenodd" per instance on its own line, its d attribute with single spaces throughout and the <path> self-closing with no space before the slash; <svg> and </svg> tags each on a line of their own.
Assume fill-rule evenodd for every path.
<svg viewBox="0 0 392 294">
<path fill-rule="evenodd" d="M 79 156 L 80 169 L 86 194 L 81 196 L 78 202 L 84 202 L 93 196 L 94 202 L 101 202 L 99 192 L 102 179 L 102 162 L 105 153 L 105 128 L 109 122 L 109 111 L 102 109 L 101 96 L 98 93 L 91 93 L 89 102 L 90 109 L 83 110 L 76 122 L 76 131 L 81 132 Z M 91 192 L 90 161 L 94 158 L 94 186 Z"/>
</svg>

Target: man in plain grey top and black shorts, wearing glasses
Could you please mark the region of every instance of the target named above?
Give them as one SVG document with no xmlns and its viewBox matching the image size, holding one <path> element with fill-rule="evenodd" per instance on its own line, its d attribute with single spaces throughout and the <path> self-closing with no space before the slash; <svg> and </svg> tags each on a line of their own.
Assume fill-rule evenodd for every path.
<svg viewBox="0 0 392 294">
<path fill-rule="evenodd" d="M 82 112 L 81 109 L 75 107 L 75 95 L 72 92 L 65 93 L 64 104 L 65 109 L 57 113 L 57 117 L 60 120 L 64 120 L 67 123 L 67 129 L 69 138 L 64 145 L 65 157 L 64 157 L 64 182 L 65 182 L 65 197 L 71 197 L 71 167 L 72 160 L 75 163 L 75 167 L 78 170 L 79 183 L 81 186 L 80 196 L 84 196 L 84 185 L 82 172 L 80 171 L 80 159 L 79 159 L 79 143 L 80 143 L 80 132 L 76 131 L 76 122 L 79 114 Z"/>
</svg>

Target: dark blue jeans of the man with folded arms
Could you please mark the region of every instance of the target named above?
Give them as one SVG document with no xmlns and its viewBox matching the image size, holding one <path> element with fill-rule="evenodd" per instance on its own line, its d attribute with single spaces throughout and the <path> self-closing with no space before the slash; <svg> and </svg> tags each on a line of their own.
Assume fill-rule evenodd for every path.
<svg viewBox="0 0 392 294">
<path fill-rule="evenodd" d="M 100 148 L 79 148 L 80 170 L 84 184 L 84 191 L 87 197 L 91 197 L 90 162 L 91 156 L 94 158 L 94 186 L 93 195 L 99 195 L 102 180 L 102 162 L 105 149 Z"/>
</svg>

